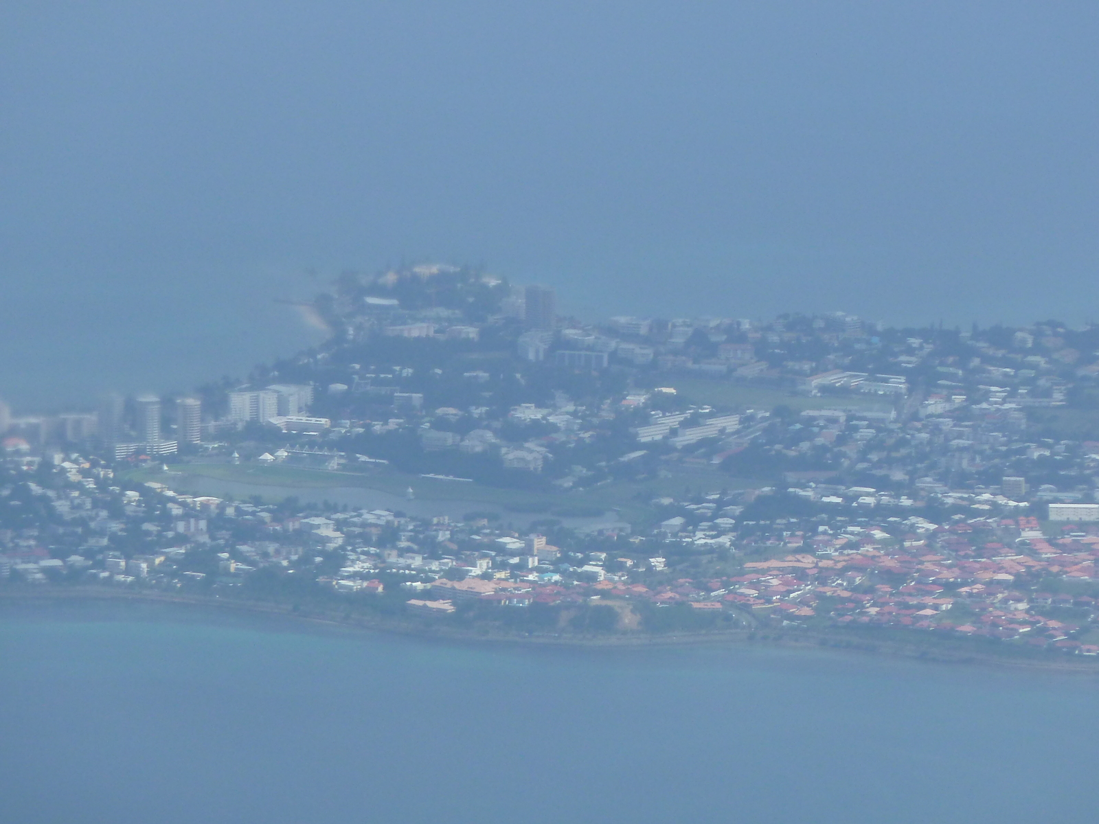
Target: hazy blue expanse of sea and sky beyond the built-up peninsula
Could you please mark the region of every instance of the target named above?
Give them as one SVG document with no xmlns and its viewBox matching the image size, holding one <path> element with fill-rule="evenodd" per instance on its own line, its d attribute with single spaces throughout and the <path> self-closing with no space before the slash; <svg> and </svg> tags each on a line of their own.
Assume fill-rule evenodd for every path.
<svg viewBox="0 0 1099 824">
<path fill-rule="evenodd" d="M 311 339 L 302 272 L 564 310 L 1095 318 L 1095 2 L 0 4 L 0 396 Z"/>
</svg>

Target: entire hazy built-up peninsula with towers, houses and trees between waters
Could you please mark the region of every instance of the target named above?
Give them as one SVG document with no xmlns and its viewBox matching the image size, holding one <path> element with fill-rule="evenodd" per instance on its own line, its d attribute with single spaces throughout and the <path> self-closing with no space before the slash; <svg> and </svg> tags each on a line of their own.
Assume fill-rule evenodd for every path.
<svg viewBox="0 0 1099 824">
<path fill-rule="evenodd" d="M 441 265 L 300 309 L 247 380 L 0 407 L 0 593 L 1099 656 L 1099 326 L 587 323 Z"/>
</svg>

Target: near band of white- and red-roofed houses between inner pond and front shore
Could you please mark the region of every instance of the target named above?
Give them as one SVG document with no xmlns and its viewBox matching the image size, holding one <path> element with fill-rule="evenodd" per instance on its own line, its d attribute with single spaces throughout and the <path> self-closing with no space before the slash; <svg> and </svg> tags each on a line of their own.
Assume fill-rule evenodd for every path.
<svg viewBox="0 0 1099 824">
<path fill-rule="evenodd" d="M 1099 523 L 1040 522 L 1007 504 L 989 513 L 974 508 L 991 504 L 963 501 L 965 512 L 933 521 L 876 497 L 861 503 L 873 490 L 848 489 L 835 495 L 842 514 L 752 521 L 776 490 L 713 492 L 654 500 L 654 517 L 679 514 L 636 534 L 625 524 L 598 541 L 564 531 L 554 546 L 479 516 L 321 513 L 159 481 L 116 485 L 110 468 L 78 455 L 8 458 L 3 481 L 8 583 L 231 591 L 268 568 L 441 620 L 469 602 L 681 604 L 737 626 L 885 626 L 1099 653 Z M 31 510 L 37 521 L 13 528 L 12 512 Z"/>
</svg>

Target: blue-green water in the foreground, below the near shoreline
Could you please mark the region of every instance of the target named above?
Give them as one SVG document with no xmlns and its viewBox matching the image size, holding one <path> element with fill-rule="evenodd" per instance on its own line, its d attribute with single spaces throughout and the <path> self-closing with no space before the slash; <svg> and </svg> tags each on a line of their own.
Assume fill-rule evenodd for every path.
<svg viewBox="0 0 1099 824">
<path fill-rule="evenodd" d="M 0 821 L 1086 821 L 1094 679 L 0 613 Z"/>
</svg>

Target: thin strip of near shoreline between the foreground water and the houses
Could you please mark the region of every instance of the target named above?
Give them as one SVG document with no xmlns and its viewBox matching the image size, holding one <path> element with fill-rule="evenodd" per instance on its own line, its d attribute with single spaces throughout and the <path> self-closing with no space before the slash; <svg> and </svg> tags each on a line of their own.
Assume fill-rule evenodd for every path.
<svg viewBox="0 0 1099 824">
<path fill-rule="evenodd" d="M 362 616 L 348 619 L 332 612 L 308 612 L 289 605 L 243 599 L 204 597 L 155 591 L 111 591 L 99 588 L 74 588 L 51 591 L 0 591 L 0 605 L 40 605 L 66 602 L 130 602 L 158 603 L 195 609 L 236 612 L 249 615 L 291 619 L 302 625 L 326 627 L 344 632 L 385 633 L 425 641 L 454 644 L 507 645 L 511 647 L 558 647 L 577 649 L 644 649 L 680 646 L 770 646 L 785 649 L 857 653 L 866 656 L 904 658 L 908 660 L 947 665 L 992 666 L 1026 671 L 1046 671 L 1072 675 L 1099 676 L 1099 660 L 1083 660 L 1067 656 L 1047 658 L 1025 657 L 1007 650 L 997 654 L 988 650 L 963 648 L 953 639 L 941 639 L 934 647 L 910 644 L 896 638 L 872 637 L 841 633 L 820 633 L 804 630 L 777 630 L 766 633 L 726 630 L 719 632 L 676 633 L 618 633 L 613 635 L 534 635 L 507 632 L 479 632 L 477 627 L 446 626 L 434 623 L 411 624 Z M 481 627 L 484 630 L 485 627 Z"/>
</svg>

